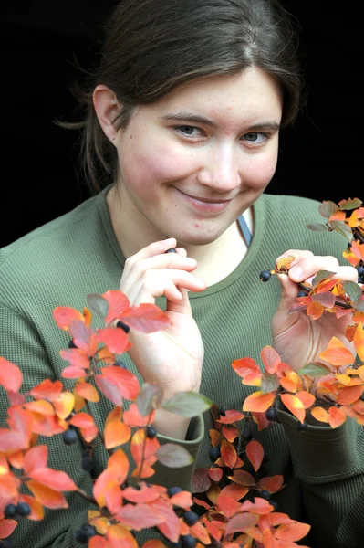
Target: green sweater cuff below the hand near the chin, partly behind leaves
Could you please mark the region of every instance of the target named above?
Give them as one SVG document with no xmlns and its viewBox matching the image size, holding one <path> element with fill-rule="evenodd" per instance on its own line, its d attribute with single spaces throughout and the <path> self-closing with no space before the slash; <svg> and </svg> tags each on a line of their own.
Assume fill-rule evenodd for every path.
<svg viewBox="0 0 364 548">
<path fill-rule="evenodd" d="M 169 489 L 178 486 L 182 490 L 192 491 L 192 474 L 195 467 L 195 461 L 199 452 L 201 441 L 204 437 L 203 416 L 193 416 L 188 427 L 186 439 L 175 439 L 173 437 L 157 435 L 161 445 L 165 443 L 175 443 L 192 455 L 193 462 L 182 468 L 170 468 L 161 464 L 159 460 L 153 465 L 155 474 L 151 476 L 151 483 L 162 485 Z"/>
</svg>

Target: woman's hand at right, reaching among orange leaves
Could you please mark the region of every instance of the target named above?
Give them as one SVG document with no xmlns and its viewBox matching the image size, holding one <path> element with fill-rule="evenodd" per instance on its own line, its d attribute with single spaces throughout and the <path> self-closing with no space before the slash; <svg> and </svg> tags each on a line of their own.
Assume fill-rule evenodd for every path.
<svg viewBox="0 0 364 548">
<path fill-rule="evenodd" d="M 351 266 L 339 266 L 335 257 L 314 256 L 311 251 L 290 249 L 280 258 L 294 256 L 288 274 L 278 274 L 281 284 L 281 300 L 272 321 L 273 345 L 286 364 L 298 371 L 305 364 L 322 360 L 319 354 L 326 350 L 332 337 L 344 342 L 355 355 L 345 335 L 352 323 L 351 315 L 338 319 L 334 313 L 324 311 L 317 320 L 307 316 L 303 311 L 289 312 L 296 302 L 299 282 L 311 282 L 318 270 L 335 272 L 335 278 L 358 282 L 358 271 Z M 279 258 L 276 259 L 276 262 Z"/>
</svg>

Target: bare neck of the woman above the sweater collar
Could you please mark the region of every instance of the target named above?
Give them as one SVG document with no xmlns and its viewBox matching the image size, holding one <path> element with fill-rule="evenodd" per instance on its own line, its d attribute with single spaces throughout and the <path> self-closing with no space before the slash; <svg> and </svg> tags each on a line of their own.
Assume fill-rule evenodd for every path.
<svg viewBox="0 0 364 548">
<path fill-rule="evenodd" d="M 107 204 L 112 227 L 117 237 L 120 249 L 125 258 L 137 253 L 153 241 L 165 237 L 151 233 L 150 227 L 140 226 L 140 218 L 128 215 L 122 207 L 122 201 L 113 186 L 107 195 Z M 244 219 L 253 233 L 253 216 L 251 208 L 244 212 Z M 238 223 L 235 221 L 216 240 L 203 246 L 179 246 L 187 251 L 188 257 L 195 258 L 198 263 L 193 274 L 202 278 L 207 286 L 211 286 L 226 278 L 236 269 L 244 258 L 247 248 Z"/>
</svg>

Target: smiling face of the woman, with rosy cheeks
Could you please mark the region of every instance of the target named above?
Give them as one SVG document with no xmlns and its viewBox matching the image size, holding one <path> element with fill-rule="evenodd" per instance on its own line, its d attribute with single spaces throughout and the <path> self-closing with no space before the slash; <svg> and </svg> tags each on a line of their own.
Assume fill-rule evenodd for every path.
<svg viewBox="0 0 364 548">
<path fill-rule="evenodd" d="M 118 132 L 121 216 L 151 241 L 213 242 L 276 170 L 282 96 L 259 68 L 189 82 Z"/>
</svg>

